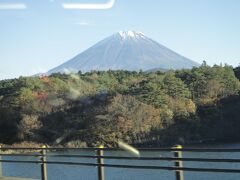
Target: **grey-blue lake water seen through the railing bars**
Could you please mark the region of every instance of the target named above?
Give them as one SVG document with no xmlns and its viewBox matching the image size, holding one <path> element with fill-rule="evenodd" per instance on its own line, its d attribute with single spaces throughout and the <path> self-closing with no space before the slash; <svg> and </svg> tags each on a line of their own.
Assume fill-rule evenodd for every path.
<svg viewBox="0 0 240 180">
<path fill-rule="evenodd" d="M 191 146 L 193 147 L 193 146 Z M 196 147 L 196 146 L 194 146 Z M 198 147 L 211 147 L 211 148 L 240 148 L 240 143 L 228 144 L 212 144 L 200 145 Z M 95 155 L 92 152 L 86 151 L 71 151 L 71 152 L 58 152 L 58 154 L 84 154 Z M 127 152 L 105 152 L 105 155 L 114 156 L 130 156 Z M 155 157 L 169 157 L 172 156 L 170 152 L 141 152 L 141 156 L 155 156 Z M 202 157 L 202 158 L 238 158 L 240 159 L 240 152 L 231 153 L 214 153 L 214 152 L 183 152 L 183 157 Z M 13 159 L 12 157 L 3 157 L 3 159 Z M 37 160 L 32 157 L 16 157 L 18 160 Z M 66 158 L 66 157 L 49 157 L 51 161 L 71 161 L 71 162 L 92 162 L 95 159 L 82 159 L 82 158 Z M 129 165 L 158 165 L 158 166 L 173 166 L 174 162 L 169 161 L 141 161 L 141 160 L 105 160 L 106 163 L 112 164 L 129 164 Z M 240 163 L 206 163 L 206 162 L 184 162 L 186 167 L 203 167 L 203 168 L 233 168 L 240 169 Z M 38 164 L 2 164 L 4 176 L 17 176 L 25 178 L 40 179 L 40 165 Z M 96 180 L 97 168 L 84 167 L 73 165 L 47 165 L 47 174 L 49 180 Z M 240 174 L 231 173 L 209 173 L 209 172 L 184 172 L 185 180 L 239 180 Z M 106 180 L 148 180 L 148 179 L 161 179 L 161 180 L 175 180 L 174 171 L 166 170 L 143 170 L 143 169 L 121 169 L 121 168 L 106 168 Z"/>
</svg>

